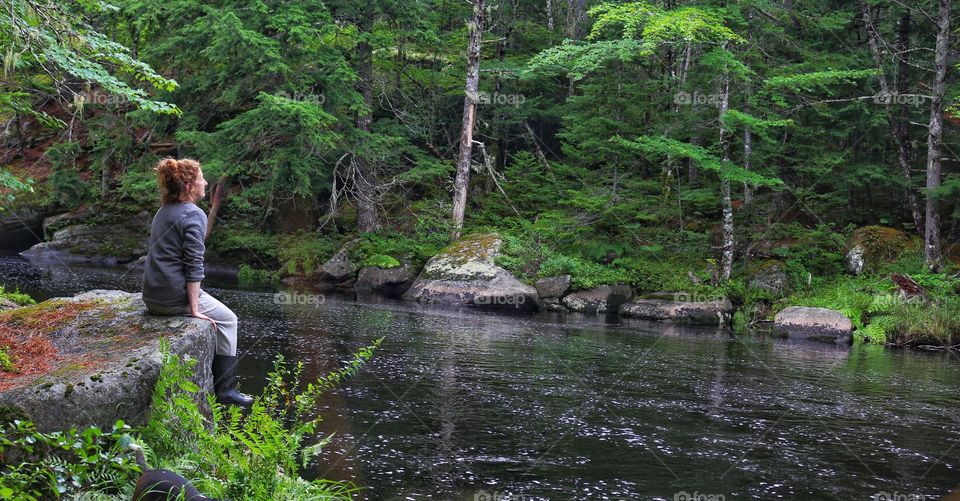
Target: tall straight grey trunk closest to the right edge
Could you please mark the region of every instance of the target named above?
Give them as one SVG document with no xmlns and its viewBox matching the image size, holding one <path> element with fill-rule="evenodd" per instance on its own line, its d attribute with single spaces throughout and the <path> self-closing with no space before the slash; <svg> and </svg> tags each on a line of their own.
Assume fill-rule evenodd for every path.
<svg viewBox="0 0 960 501">
<path fill-rule="evenodd" d="M 931 192 L 940 187 L 943 169 L 940 148 L 943 142 L 943 97 L 947 79 L 947 56 L 950 49 L 950 0 L 940 0 L 937 15 L 937 46 L 934 52 L 934 79 L 930 86 L 933 103 L 930 105 L 930 130 L 927 135 L 927 220 L 924 250 L 927 267 L 939 272 L 943 267 L 940 246 L 939 203 Z"/>
</svg>

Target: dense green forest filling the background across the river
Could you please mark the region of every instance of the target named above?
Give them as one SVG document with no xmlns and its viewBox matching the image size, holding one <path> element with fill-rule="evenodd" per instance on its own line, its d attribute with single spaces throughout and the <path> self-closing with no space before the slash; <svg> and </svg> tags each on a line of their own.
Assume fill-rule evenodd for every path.
<svg viewBox="0 0 960 501">
<path fill-rule="evenodd" d="M 0 182 L 18 202 L 153 210 L 152 166 L 192 156 L 226 193 L 211 257 L 246 281 L 309 275 L 348 242 L 363 265 L 419 265 L 458 231 L 467 144 L 463 231 L 499 233 L 521 280 L 723 294 L 739 325 L 830 306 L 865 339 L 955 344 L 949 2 L 12 5 Z M 47 175 L 28 185 L 32 148 Z M 916 244 L 854 278 L 869 225 Z M 867 243 L 907 246 L 885 235 L 903 238 Z M 784 290 L 754 285 L 770 266 Z"/>
</svg>

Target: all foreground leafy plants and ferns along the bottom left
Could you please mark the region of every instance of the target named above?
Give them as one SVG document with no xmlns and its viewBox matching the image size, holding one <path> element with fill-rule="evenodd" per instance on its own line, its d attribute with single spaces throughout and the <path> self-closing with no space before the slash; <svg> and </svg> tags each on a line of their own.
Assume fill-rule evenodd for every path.
<svg viewBox="0 0 960 501">
<path fill-rule="evenodd" d="M 200 389 L 189 381 L 196 360 L 181 360 L 163 347 L 151 416 L 142 427 L 120 421 L 112 430 L 41 433 L 30 421 L 3 416 L 0 499 L 130 499 L 142 473 L 130 444 L 142 447 L 151 468 L 177 472 L 207 496 L 352 499 L 356 487 L 306 481 L 299 472 L 328 440 L 316 436 L 317 398 L 355 375 L 377 346 L 379 341 L 343 368 L 304 385 L 302 364 L 290 368 L 278 358 L 248 413 L 225 408 L 209 395 L 212 419 L 201 412 Z"/>
</svg>

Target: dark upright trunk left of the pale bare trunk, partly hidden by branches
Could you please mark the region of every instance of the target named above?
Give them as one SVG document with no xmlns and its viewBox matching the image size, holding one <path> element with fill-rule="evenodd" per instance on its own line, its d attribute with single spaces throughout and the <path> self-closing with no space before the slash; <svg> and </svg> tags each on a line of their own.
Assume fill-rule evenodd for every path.
<svg viewBox="0 0 960 501">
<path fill-rule="evenodd" d="M 373 29 L 372 13 L 362 18 L 360 21 L 360 35 L 366 37 L 370 35 Z M 363 105 L 366 108 L 361 112 L 355 124 L 360 131 L 361 137 L 370 132 L 370 124 L 373 122 L 373 47 L 365 38 L 357 44 L 357 90 L 363 97 Z M 376 231 L 380 228 L 380 219 L 377 215 L 377 181 L 373 169 L 370 167 L 368 159 L 362 155 L 355 158 L 356 175 L 355 186 L 357 199 L 357 228 L 361 232 Z"/>
</svg>

